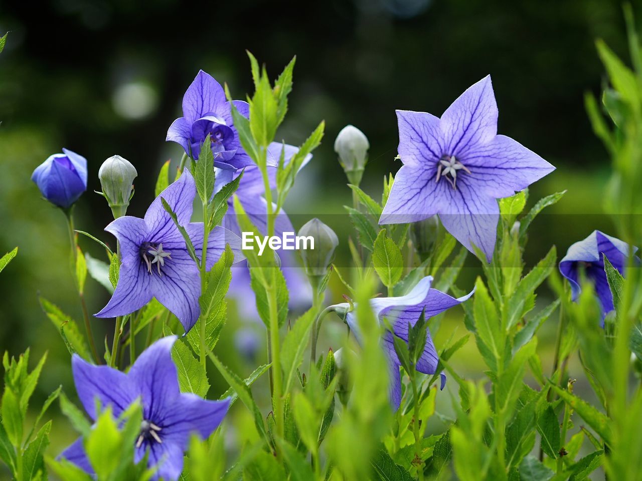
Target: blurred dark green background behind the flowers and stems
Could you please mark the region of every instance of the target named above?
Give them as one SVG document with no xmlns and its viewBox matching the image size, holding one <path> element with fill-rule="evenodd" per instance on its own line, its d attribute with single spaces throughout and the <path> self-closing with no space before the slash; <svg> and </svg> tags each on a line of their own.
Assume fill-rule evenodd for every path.
<svg viewBox="0 0 642 481">
<path fill-rule="evenodd" d="M 601 215 L 609 160 L 591 132 L 582 97 L 587 90 L 597 94 L 603 81 L 595 38 L 627 57 L 617 1 L 3 2 L 0 31 L 10 31 L 0 55 L 0 253 L 20 249 L 0 276 L 0 350 L 49 351 L 39 387 L 43 396 L 60 383 L 73 393 L 73 385 L 69 356 L 42 314 L 38 295 L 76 318 L 80 310 L 68 269 L 64 217 L 40 199 L 31 171 L 62 147 L 85 156 L 89 187 L 76 208 L 77 228 L 113 244 L 102 232 L 110 211 L 92 193 L 100 189 L 101 162 L 117 153 L 137 167 L 128 214 L 143 215 L 160 165 L 181 155 L 180 147 L 164 139 L 181 115 L 184 90 L 204 69 L 227 82 L 234 97 L 244 98 L 251 90 L 245 49 L 268 65 L 272 77 L 297 55 L 290 112 L 279 139 L 299 144 L 326 121 L 325 141 L 297 179 L 286 209 L 297 228 L 315 215 L 343 214 L 342 205 L 351 203 L 333 152 L 334 136 L 345 124 L 358 126 L 370 139 L 362 187 L 379 198 L 383 175 L 400 165 L 394 161 L 395 108 L 440 115 L 490 73 L 499 132 L 557 166 L 532 187 L 529 204 L 569 190 L 532 225 L 526 257 L 537 260 L 551 244 L 561 257 L 595 228 L 612 232 Z M 345 215 L 332 218 L 345 248 L 349 221 Z M 95 257 L 103 255 L 91 241 L 80 241 Z M 345 251 L 339 256 L 345 258 Z M 460 279 L 462 289 L 472 286 L 476 271 L 470 271 Z M 92 280 L 87 290 L 90 310 L 97 312 L 108 293 Z M 340 300 L 341 294 L 333 282 L 333 298 Z M 453 329 L 463 333 L 460 314 L 449 314 L 437 346 Z M 239 325 L 233 312 L 230 317 L 224 337 Z M 94 330 L 103 339 L 112 323 L 96 319 Z M 541 334 L 545 362 L 554 330 L 549 321 Z M 326 344 L 331 342 L 332 335 Z M 241 373 L 251 369 L 234 356 L 231 342 L 218 349 L 229 351 L 224 356 Z M 475 376 L 477 356 L 471 342 L 455 365 Z M 212 392 L 224 389 L 221 383 Z M 442 399 L 449 405 L 447 396 Z M 61 424 L 54 436 L 71 439 Z"/>
</svg>

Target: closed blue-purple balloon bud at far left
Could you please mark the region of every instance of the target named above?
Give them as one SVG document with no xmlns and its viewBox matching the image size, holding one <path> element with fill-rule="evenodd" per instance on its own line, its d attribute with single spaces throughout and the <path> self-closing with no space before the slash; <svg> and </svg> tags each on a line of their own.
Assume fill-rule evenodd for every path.
<svg viewBox="0 0 642 481">
<path fill-rule="evenodd" d="M 36 167 L 31 180 L 49 202 L 68 208 L 87 190 L 87 159 L 71 150 L 62 151 Z"/>
</svg>

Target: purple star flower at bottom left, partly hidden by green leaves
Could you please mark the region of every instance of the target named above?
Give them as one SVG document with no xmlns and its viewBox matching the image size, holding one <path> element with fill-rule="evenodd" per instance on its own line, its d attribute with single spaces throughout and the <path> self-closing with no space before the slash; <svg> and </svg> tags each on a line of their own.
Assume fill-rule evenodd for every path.
<svg viewBox="0 0 642 481">
<path fill-rule="evenodd" d="M 109 366 L 94 366 L 74 354 L 71 360 L 78 398 L 92 420 L 107 406 L 115 418 L 134 401 L 143 409 L 141 433 L 135 444 L 134 462 L 149 452 L 148 466 L 158 466 L 154 479 L 177 480 L 183 469 L 183 454 L 189 437 L 207 439 L 223 421 L 230 399 L 206 401 L 196 394 L 180 392 L 178 372 L 171 360 L 176 336 L 156 341 L 134 362 L 129 373 Z M 100 412 L 96 412 L 96 400 Z M 87 473 L 93 473 L 82 438 L 60 454 Z"/>
</svg>

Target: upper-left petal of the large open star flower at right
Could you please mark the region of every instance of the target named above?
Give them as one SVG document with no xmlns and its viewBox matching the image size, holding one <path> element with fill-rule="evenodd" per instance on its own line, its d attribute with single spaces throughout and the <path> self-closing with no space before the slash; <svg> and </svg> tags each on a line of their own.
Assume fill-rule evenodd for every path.
<svg viewBox="0 0 642 481">
<path fill-rule="evenodd" d="M 397 110 L 399 156 L 404 165 L 421 167 L 435 177 L 437 162 L 446 153 L 440 121 L 435 115 Z"/>
</svg>

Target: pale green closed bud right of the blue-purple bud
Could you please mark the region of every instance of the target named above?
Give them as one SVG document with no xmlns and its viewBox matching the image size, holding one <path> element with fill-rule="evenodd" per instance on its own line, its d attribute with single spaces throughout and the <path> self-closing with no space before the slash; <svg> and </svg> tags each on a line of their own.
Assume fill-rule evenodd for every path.
<svg viewBox="0 0 642 481">
<path fill-rule="evenodd" d="M 137 175 L 134 165 L 119 155 L 111 156 L 100 166 L 98 178 L 114 217 L 125 215 Z"/>
</svg>

